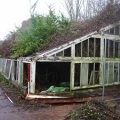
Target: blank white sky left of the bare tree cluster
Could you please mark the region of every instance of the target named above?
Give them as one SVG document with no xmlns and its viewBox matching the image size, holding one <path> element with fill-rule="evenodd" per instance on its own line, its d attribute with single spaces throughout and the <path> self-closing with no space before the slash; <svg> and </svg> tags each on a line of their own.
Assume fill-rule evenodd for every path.
<svg viewBox="0 0 120 120">
<path fill-rule="evenodd" d="M 0 1 L 0 40 L 19 27 L 23 20 L 30 17 L 30 0 L 1 0 Z M 34 3 L 36 0 L 31 0 Z M 64 0 L 39 0 L 36 12 L 47 14 L 48 6 L 52 5 L 56 13 L 64 12 Z"/>
</svg>

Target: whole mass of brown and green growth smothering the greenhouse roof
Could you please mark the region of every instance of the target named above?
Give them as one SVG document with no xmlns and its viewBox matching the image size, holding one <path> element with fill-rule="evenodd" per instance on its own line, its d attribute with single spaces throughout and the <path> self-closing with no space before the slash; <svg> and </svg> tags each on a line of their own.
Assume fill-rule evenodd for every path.
<svg viewBox="0 0 120 120">
<path fill-rule="evenodd" d="M 94 9 L 98 8 L 98 3 L 103 3 L 103 0 L 96 2 L 90 2 L 91 5 L 96 6 Z M 7 58 L 11 58 L 11 56 L 17 58 L 31 55 L 37 51 L 44 52 L 118 22 L 120 20 L 120 2 L 118 0 L 114 2 L 113 0 L 106 0 L 105 3 L 105 6 L 99 9 L 97 14 L 91 16 L 91 13 L 91 17 L 87 14 L 90 10 L 86 9 L 85 14 L 88 17 L 85 20 L 83 19 L 83 21 L 79 19 L 80 16 L 77 17 L 77 21 L 69 21 L 62 15 L 55 15 L 51 10 L 46 16 L 35 15 L 33 13 L 32 17 L 25 21 L 25 26 L 23 25 L 23 21 L 21 28 L 7 36 L 6 40 L 0 45 L 0 55 Z M 79 4 L 82 5 L 82 3 Z M 79 4 L 76 2 L 76 7 L 79 8 Z M 71 8 L 71 4 L 69 5 Z M 72 5 L 74 6 L 74 4 Z M 76 10 L 79 10 L 78 8 Z M 78 15 L 80 11 L 76 11 L 76 14 Z"/>
</svg>

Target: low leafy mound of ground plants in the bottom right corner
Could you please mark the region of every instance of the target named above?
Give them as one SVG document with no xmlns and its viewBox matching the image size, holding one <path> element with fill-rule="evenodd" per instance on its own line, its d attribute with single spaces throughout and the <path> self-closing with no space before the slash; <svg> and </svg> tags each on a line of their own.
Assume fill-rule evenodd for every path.
<svg viewBox="0 0 120 120">
<path fill-rule="evenodd" d="M 120 117 L 102 103 L 81 104 L 65 120 L 119 120 Z"/>
</svg>

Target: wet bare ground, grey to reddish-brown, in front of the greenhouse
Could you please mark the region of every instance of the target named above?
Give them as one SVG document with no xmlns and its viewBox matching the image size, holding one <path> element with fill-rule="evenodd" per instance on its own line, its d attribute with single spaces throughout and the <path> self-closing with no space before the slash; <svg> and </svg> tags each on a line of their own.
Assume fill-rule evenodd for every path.
<svg viewBox="0 0 120 120">
<path fill-rule="evenodd" d="M 28 105 L 14 104 L 0 88 L 0 120 L 63 120 L 75 108 L 75 104 L 41 105 L 37 109 L 33 109 L 30 105 L 28 107 Z"/>
</svg>

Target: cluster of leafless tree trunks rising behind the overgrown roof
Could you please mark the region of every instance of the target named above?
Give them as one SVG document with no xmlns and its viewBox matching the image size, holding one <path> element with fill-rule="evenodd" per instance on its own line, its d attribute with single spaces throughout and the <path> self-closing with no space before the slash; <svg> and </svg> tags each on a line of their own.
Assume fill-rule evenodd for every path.
<svg viewBox="0 0 120 120">
<path fill-rule="evenodd" d="M 105 8 L 108 2 L 118 0 L 65 0 L 69 18 L 72 21 L 81 21 L 97 15 Z"/>
</svg>

